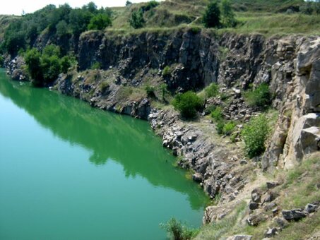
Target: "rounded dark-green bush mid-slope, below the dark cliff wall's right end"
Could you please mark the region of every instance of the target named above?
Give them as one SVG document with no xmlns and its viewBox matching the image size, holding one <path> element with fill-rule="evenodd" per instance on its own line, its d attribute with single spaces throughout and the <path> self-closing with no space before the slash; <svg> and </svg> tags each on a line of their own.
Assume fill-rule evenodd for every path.
<svg viewBox="0 0 320 240">
<path fill-rule="evenodd" d="M 203 100 L 194 92 L 184 92 L 174 97 L 172 102 L 174 109 L 177 109 L 185 118 L 193 118 L 196 112 L 203 107 Z"/>
</svg>

